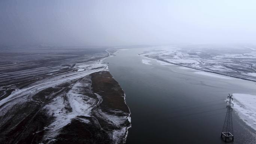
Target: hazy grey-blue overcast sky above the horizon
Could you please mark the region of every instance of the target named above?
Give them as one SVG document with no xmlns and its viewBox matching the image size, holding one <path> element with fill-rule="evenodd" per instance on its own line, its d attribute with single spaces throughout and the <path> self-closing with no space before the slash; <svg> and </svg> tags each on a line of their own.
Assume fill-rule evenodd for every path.
<svg viewBox="0 0 256 144">
<path fill-rule="evenodd" d="M 255 43 L 256 0 L 0 0 L 0 45 Z"/>
</svg>

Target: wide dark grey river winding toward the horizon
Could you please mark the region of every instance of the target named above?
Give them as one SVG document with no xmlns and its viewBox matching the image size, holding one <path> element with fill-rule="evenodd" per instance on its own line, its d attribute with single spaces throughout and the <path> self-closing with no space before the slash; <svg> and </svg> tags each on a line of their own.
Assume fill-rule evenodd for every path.
<svg viewBox="0 0 256 144">
<path fill-rule="evenodd" d="M 127 144 L 221 144 L 228 94 L 256 94 L 256 83 L 212 77 L 139 56 L 146 48 L 122 49 L 109 62 L 126 94 L 132 127 Z M 142 59 L 150 60 L 143 64 Z M 215 74 L 217 75 L 217 74 Z M 255 144 L 256 131 L 232 112 L 233 144 Z"/>
</svg>

